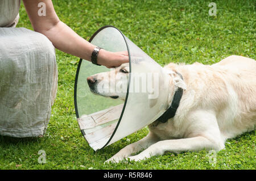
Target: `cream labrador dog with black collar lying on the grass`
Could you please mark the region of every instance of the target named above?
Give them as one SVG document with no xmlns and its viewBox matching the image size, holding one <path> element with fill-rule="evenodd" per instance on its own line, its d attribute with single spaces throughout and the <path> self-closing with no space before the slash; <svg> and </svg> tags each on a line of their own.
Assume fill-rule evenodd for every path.
<svg viewBox="0 0 256 181">
<path fill-rule="evenodd" d="M 229 56 L 213 65 L 168 64 L 169 100 L 177 87 L 184 89 L 175 116 L 165 123 L 148 125 L 150 132 L 142 140 L 127 145 L 106 162 L 123 159 L 140 161 L 167 151 L 221 150 L 225 141 L 255 130 L 256 124 L 256 62 L 242 56 Z M 114 69 L 115 81 L 127 77 L 129 65 Z M 180 78 L 182 75 L 183 79 Z M 88 77 L 94 94 L 125 99 L 125 92 L 104 92 L 97 83 L 109 73 Z M 159 92 L 161 94 L 161 92 Z M 137 155 L 138 151 L 143 150 Z"/>
</svg>

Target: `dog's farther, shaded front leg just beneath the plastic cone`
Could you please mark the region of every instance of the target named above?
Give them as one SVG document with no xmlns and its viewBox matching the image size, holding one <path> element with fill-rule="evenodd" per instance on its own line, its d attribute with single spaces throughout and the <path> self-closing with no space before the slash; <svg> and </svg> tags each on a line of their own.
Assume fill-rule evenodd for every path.
<svg viewBox="0 0 256 181">
<path fill-rule="evenodd" d="M 125 148 L 118 151 L 113 157 L 108 159 L 106 162 L 119 162 L 124 158 L 129 157 L 133 153 L 137 153 L 142 149 L 148 148 L 148 146 L 155 144 L 159 141 L 159 138 L 152 132 L 149 132 L 146 137 L 142 138 L 133 144 L 125 146 Z"/>
</svg>

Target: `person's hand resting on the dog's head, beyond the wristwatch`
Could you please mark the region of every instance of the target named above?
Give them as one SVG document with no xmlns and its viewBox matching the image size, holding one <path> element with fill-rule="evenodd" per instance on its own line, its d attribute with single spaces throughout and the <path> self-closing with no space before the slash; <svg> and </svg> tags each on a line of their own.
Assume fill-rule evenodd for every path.
<svg viewBox="0 0 256 181">
<path fill-rule="evenodd" d="M 98 52 L 97 64 L 104 65 L 107 68 L 115 68 L 126 62 L 129 62 L 127 51 L 109 52 L 105 49 L 101 49 L 100 52 Z"/>
</svg>

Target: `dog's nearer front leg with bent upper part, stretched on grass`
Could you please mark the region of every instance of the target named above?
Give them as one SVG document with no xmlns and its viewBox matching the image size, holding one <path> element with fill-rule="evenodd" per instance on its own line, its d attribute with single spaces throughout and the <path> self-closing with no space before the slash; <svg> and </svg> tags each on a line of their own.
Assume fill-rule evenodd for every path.
<svg viewBox="0 0 256 181">
<path fill-rule="evenodd" d="M 203 149 L 221 150 L 225 147 L 214 113 L 200 110 L 194 112 L 188 118 L 189 120 L 185 120 L 185 123 L 187 123 L 185 132 L 190 133 L 187 138 L 156 142 L 140 154 L 129 158 L 139 161 L 154 155 L 162 155 L 166 151 L 180 153 L 181 151 L 199 151 Z"/>
</svg>

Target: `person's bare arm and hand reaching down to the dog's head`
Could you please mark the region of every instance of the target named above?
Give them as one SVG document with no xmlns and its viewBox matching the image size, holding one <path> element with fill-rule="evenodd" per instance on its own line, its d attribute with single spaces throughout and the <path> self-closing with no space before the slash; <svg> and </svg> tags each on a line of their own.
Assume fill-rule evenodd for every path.
<svg viewBox="0 0 256 181">
<path fill-rule="evenodd" d="M 51 0 L 43 1 L 46 5 L 46 16 L 39 16 L 38 4 L 40 2 L 42 0 L 23 0 L 34 30 L 47 36 L 55 48 L 90 61 L 93 49 L 96 46 L 77 35 L 70 27 L 61 22 Z M 127 52 L 114 53 L 104 49 L 100 50 L 97 58 L 98 64 L 105 65 L 108 68 L 119 66 L 128 61 Z"/>
</svg>

